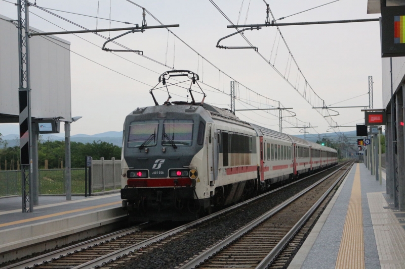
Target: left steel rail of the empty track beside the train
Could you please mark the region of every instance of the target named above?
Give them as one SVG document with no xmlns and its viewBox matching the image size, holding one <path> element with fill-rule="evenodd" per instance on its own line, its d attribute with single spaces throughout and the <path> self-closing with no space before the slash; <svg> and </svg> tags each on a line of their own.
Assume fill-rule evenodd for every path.
<svg viewBox="0 0 405 269">
<path fill-rule="evenodd" d="M 312 188 L 314 188 L 318 184 L 322 183 L 323 181 L 325 181 L 326 179 L 331 177 L 332 175 L 336 174 L 337 172 L 339 172 L 344 167 L 345 166 L 342 166 L 338 170 L 332 172 L 331 174 L 329 174 L 326 177 L 323 177 L 322 179 L 318 180 L 317 182 L 315 182 L 311 186 L 305 188 L 304 190 L 300 191 L 296 195 L 292 196 L 288 200 L 286 200 L 286 201 L 282 202 L 281 204 L 275 206 L 274 208 L 269 210 L 267 213 L 264 213 L 261 217 L 257 218 L 256 220 L 252 221 L 250 224 L 246 225 L 245 227 L 239 229 L 235 233 L 228 236 L 225 240 L 219 242 L 215 246 L 209 248 L 208 250 L 204 251 L 203 253 L 200 253 L 195 258 L 191 259 L 187 263 L 185 263 L 182 266 L 178 267 L 178 269 L 198 268 L 199 265 L 203 264 L 205 261 L 209 260 L 210 258 L 216 256 L 217 253 L 219 253 L 221 250 L 227 248 L 229 245 L 231 245 L 232 243 L 237 241 L 240 237 L 244 236 L 245 234 L 247 234 L 250 231 L 252 231 L 253 229 L 255 229 L 258 225 L 265 222 L 267 219 L 272 217 L 275 213 L 277 213 L 278 211 L 280 211 L 281 209 L 283 209 L 284 207 L 286 207 L 287 205 L 292 203 L 294 200 L 301 197 L 306 192 L 308 192 L 309 190 L 311 190 Z"/>
</svg>

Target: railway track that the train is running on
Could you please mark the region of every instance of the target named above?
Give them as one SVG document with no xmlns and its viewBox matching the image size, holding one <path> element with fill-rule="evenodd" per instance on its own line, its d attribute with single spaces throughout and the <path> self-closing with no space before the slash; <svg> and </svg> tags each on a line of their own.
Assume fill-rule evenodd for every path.
<svg viewBox="0 0 405 269">
<path fill-rule="evenodd" d="M 325 173 L 321 171 L 318 173 Z M 318 173 L 314 174 L 317 175 Z M 333 172 L 336 173 L 336 172 Z M 314 176 L 312 175 L 312 176 Z M 216 217 L 230 213 L 238 207 L 249 203 L 259 202 L 263 197 L 288 188 L 291 185 L 302 182 L 312 176 L 305 177 L 288 185 L 277 188 L 273 191 L 264 193 L 245 202 L 238 203 L 234 206 L 225 208 L 221 211 L 211 214 L 205 218 L 182 225 L 175 229 L 165 231 L 150 229 L 152 224 L 142 224 L 140 226 L 121 230 L 116 233 L 92 239 L 74 246 L 61 250 L 53 251 L 29 260 L 15 263 L 1 269 L 10 268 L 92 268 L 103 265 L 116 266 L 124 263 L 126 260 L 133 259 L 136 256 L 145 254 L 154 248 L 161 247 L 168 242 L 190 235 L 198 229 L 210 226 L 211 221 Z M 267 252 L 268 253 L 268 252 Z"/>
</svg>

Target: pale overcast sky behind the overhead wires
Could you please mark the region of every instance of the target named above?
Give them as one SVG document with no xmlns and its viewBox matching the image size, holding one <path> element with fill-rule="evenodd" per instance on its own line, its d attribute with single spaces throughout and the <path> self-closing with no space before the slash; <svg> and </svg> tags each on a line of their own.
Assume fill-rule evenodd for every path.
<svg viewBox="0 0 405 269">
<path fill-rule="evenodd" d="M 8 0 L 9 1 L 9 0 Z M 15 0 L 10 0 L 15 2 Z M 32 0 L 34 2 L 34 0 Z M 167 66 L 196 72 L 204 82 L 201 87 L 207 93 L 206 102 L 228 107 L 230 78 L 263 96 L 280 101 L 285 107 L 294 107 L 297 118 L 318 126 L 316 132 L 325 133 L 328 123 L 311 105 L 264 61 L 253 49 L 219 49 L 215 45 L 219 38 L 235 32 L 226 28 L 229 22 L 210 3 L 204 1 L 145 1 L 135 0 L 164 24 L 180 24 L 171 30 L 185 43 L 199 53 L 197 55 L 178 38 L 168 34 L 166 29 L 148 29 L 144 33 L 129 34 L 117 39 L 131 49 L 143 51 L 147 58 L 132 52 L 117 52 L 116 55 L 104 52 L 99 47 L 104 39 L 92 33 L 60 35 L 71 42 L 71 94 L 72 116 L 83 116 L 72 124 L 71 134 L 95 134 L 106 131 L 120 131 L 126 115 L 138 106 L 153 105 L 149 94 L 151 86 L 158 82 L 159 74 L 168 71 Z M 226 16 L 239 24 L 257 24 L 265 22 L 266 6 L 263 0 L 214 1 Z M 329 3 L 331 1 L 270 1 L 270 9 L 275 18 L 289 15 Z M 111 3 L 111 4 L 110 4 Z M 243 5 L 242 5 L 243 3 Z M 36 0 L 41 7 L 80 13 L 111 20 L 139 23 L 142 22 L 142 10 L 126 0 L 87 0 L 59 1 Z M 110 13 L 111 8 L 111 13 Z M 249 12 L 248 12 L 249 8 Z M 31 7 L 30 26 L 43 31 L 78 30 L 51 14 Z M 239 15 L 240 11 L 240 15 Z M 69 13 L 52 11 L 89 29 L 109 28 L 109 21 L 84 17 Z M 15 19 L 16 6 L 0 0 L 0 14 Z M 42 18 L 40 18 L 40 17 Z M 378 18 L 379 14 L 367 14 L 367 1 L 340 0 L 335 3 L 307 11 L 280 20 L 280 23 L 348 20 Z M 44 19 L 48 20 L 45 21 Z M 148 26 L 158 25 L 149 15 L 146 16 Z M 51 23 L 55 24 L 51 24 Z M 111 22 L 111 28 L 129 27 L 130 25 Z M 368 106 L 368 76 L 374 81 L 374 108 L 381 108 L 381 50 L 378 22 L 283 26 L 280 27 L 294 59 L 305 76 L 308 84 L 327 105 Z M 114 37 L 121 32 L 104 32 L 104 36 Z M 289 68 L 288 50 L 279 40 L 274 27 L 263 27 L 257 31 L 246 31 L 245 36 L 259 48 L 259 52 L 283 76 L 291 77 L 294 70 Z M 42 38 L 42 37 L 32 37 Z M 91 44 L 90 42 L 94 43 Z M 235 35 L 221 42 L 228 46 L 247 46 L 246 41 Z M 99 47 L 97 47 L 97 46 Z M 118 48 L 116 45 L 108 47 Z M 75 52 L 75 53 L 73 53 Z M 85 57 L 85 58 L 84 58 Z M 206 60 L 203 60 L 204 57 Z M 86 59 L 87 58 L 87 59 Z M 91 60 L 91 61 L 90 61 Z M 210 61 L 226 75 L 211 66 Z M 93 62 L 92 62 L 93 61 Z M 96 63 L 98 64 L 96 64 Z M 105 67 L 103 67 L 103 66 Z M 108 69 L 107 69 L 108 68 Z M 292 68 L 294 69 L 294 67 Z M 298 82 L 289 78 L 290 82 Z M 304 85 L 301 80 L 301 87 Z M 171 89 L 172 100 L 185 100 L 186 91 L 181 88 Z M 239 85 L 238 98 L 246 102 L 257 102 L 257 97 L 249 94 Z M 366 94 L 345 102 L 345 99 Z M 179 95 L 179 96 L 178 96 Z M 195 94 L 197 100 L 201 95 Z M 167 93 L 156 91 L 159 103 L 167 99 Z M 247 100 L 246 100 L 247 99 Z M 263 102 L 261 99 L 260 102 Z M 249 104 L 236 101 L 236 109 L 253 108 Z M 333 119 L 340 125 L 363 123 L 364 114 L 358 109 L 339 109 L 340 116 Z M 274 113 L 274 112 L 273 112 Z M 331 112 L 331 114 L 333 114 Z M 268 127 L 278 131 L 278 118 L 265 112 L 237 112 L 242 120 Z M 285 127 L 291 127 L 288 123 Z M 63 128 L 61 128 L 62 130 Z M 350 131 L 355 128 L 341 128 Z M 316 134 L 314 130 L 309 130 Z M 298 129 L 285 129 L 286 133 L 299 134 Z"/>
</svg>

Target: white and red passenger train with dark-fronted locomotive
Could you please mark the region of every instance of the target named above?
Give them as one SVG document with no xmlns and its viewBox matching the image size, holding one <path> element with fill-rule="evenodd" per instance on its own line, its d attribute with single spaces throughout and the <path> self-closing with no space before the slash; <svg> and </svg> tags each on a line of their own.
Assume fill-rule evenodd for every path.
<svg viewBox="0 0 405 269">
<path fill-rule="evenodd" d="M 124 123 L 120 194 L 131 222 L 195 220 L 338 163 L 333 148 L 194 98 L 155 104 Z"/>
</svg>

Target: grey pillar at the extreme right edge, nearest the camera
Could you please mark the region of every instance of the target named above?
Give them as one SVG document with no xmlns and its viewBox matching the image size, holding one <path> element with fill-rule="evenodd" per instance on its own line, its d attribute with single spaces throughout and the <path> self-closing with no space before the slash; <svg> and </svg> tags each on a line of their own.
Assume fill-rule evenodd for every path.
<svg viewBox="0 0 405 269">
<path fill-rule="evenodd" d="M 396 145 L 398 148 L 398 207 L 399 210 L 405 210 L 405 155 L 403 145 L 403 99 L 402 89 L 398 90 L 396 96 Z"/>
</svg>

